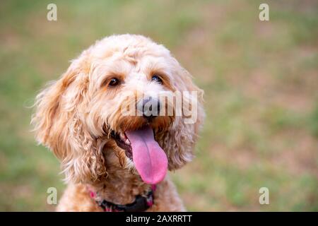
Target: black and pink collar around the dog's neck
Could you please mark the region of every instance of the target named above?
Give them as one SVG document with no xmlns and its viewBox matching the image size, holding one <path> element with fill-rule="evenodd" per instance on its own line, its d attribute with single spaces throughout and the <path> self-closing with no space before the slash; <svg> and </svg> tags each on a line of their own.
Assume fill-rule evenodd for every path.
<svg viewBox="0 0 318 226">
<path fill-rule="evenodd" d="M 133 203 L 126 205 L 119 205 L 106 201 L 96 201 L 105 212 L 143 212 L 153 206 L 153 191 L 155 191 L 155 185 L 151 186 L 151 191 L 148 191 L 146 196 L 138 195 Z M 95 197 L 95 193 L 90 191 L 90 196 Z"/>
</svg>

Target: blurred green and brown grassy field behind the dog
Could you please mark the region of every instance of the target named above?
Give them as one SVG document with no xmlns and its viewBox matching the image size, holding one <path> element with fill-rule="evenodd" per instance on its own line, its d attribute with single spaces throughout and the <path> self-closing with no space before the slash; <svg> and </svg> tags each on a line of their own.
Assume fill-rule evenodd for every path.
<svg viewBox="0 0 318 226">
<path fill-rule="evenodd" d="M 188 210 L 318 211 L 318 4 L 266 1 L 261 22 L 260 3 L 1 1 L 0 210 L 54 210 L 47 188 L 65 186 L 30 132 L 37 91 L 95 40 L 138 33 L 205 90 L 196 158 L 171 173 Z M 259 204 L 263 186 L 269 205 Z"/>
</svg>

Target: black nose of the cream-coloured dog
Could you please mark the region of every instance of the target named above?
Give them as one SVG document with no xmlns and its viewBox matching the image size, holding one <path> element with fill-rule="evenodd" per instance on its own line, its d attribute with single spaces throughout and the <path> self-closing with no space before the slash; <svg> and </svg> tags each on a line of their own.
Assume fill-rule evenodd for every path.
<svg viewBox="0 0 318 226">
<path fill-rule="evenodd" d="M 160 113 L 160 101 L 156 97 L 143 97 L 142 100 L 140 100 L 140 104 L 142 103 L 142 110 L 143 117 L 151 120 L 157 117 Z M 141 107 L 141 106 L 140 106 Z"/>
</svg>

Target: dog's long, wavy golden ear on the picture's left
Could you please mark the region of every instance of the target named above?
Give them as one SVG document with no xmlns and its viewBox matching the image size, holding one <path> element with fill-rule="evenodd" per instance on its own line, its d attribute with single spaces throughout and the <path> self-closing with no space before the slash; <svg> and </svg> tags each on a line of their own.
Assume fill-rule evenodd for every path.
<svg viewBox="0 0 318 226">
<path fill-rule="evenodd" d="M 103 141 L 94 138 L 81 117 L 88 103 L 88 75 L 78 61 L 37 95 L 31 123 L 39 143 L 61 160 L 67 181 L 89 182 L 105 176 Z"/>
</svg>

